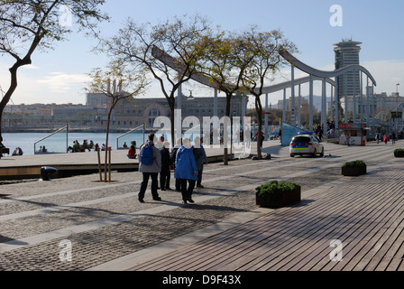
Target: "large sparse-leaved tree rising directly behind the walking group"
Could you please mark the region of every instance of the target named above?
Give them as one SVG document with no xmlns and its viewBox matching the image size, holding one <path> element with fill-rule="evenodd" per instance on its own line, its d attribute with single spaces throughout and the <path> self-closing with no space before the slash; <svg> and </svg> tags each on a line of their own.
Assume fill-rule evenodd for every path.
<svg viewBox="0 0 404 289">
<path fill-rule="evenodd" d="M 164 23 L 138 24 L 128 19 L 115 37 L 104 41 L 106 51 L 124 63 L 142 66 L 160 85 L 170 107 L 171 142 L 175 144 L 174 110 L 176 91 L 196 71 L 204 54 L 199 39 L 209 31 L 207 20 L 198 15 L 174 17 Z M 168 57 L 172 61 L 162 61 Z"/>
</svg>

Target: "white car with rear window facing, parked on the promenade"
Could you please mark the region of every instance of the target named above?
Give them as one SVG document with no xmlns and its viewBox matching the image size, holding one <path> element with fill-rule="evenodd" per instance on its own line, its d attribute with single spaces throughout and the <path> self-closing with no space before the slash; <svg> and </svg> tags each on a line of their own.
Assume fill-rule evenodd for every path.
<svg viewBox="0 0 404 289">
<path fill-rule="evenodd" d="M 289 153 L 290 157 L 303 154 L 324 156 L 324 146 L 314 133 L 299 133 L 292 137 L 289 144 Z"/>
</svg>

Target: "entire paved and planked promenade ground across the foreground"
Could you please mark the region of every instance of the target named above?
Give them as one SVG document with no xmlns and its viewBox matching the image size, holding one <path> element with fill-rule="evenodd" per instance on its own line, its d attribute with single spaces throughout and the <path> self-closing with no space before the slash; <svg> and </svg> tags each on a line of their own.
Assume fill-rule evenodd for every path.
<svg viewBox="0 0 404 289">
<path fill-rule="evenodd" d="M 92 174 L 2 185 L 0 270 L 402 271 L 404 170 L 393 156 L 402 144 L 325 144 L 323 158 L 290 158 L 267 142 L 271 160 L 209 163 L 205 188 L 187 205 L 177 191 L 154 201 L 149 189 L 140 203 L 140 172 L 114 172 L 109 183 Z M 356 159 L 368 173 L 342 176 Z M 257 207 L 255 187 L 271 180 L 300 183 L 303 200 Z"/>
</svg>

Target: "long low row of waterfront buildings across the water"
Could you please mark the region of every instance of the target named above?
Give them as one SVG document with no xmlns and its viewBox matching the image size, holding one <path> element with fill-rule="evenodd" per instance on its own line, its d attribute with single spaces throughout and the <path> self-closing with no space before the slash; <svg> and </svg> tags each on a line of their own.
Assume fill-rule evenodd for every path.
<svg viewBox="0 0 404 289">
<path fill-rule="evenodd" d="M 104 94 L 88 93 L 86 105 L 73 104 L 33 104 L 6 106 L 3 126 L 8 128 L 62 127 L 69 124 L 71 128 L 91 127 L 100 129 L 106 126 L 110 98 Z M 217 117 L 225 116 L 225 98 L 217 98 Z M 243 117 L 247 110 L 247 101 L 234 96 L 231 101 L 231 117 Z M 177 107 L 175 107 L 177 108 Z M 111 116 L 111 128 L 132 129 L 146 124 L 152 128 L 157 117 L 170 117 L 170 107 L 166 98 L 124 98 L 115 106 Z M 181 116 L 214 116 L 214 98 L 193 98 L 182 96 Z"/>
</svg>

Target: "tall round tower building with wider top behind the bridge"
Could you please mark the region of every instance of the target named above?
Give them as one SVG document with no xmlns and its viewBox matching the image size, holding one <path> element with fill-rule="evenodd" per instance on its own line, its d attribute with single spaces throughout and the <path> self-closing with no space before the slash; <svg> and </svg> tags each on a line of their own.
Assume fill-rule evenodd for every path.
<svg viewBox="0 0 404 289">
<path fill-rule="evenodd" d="M 359 64 L 359 51 L 361 51 L 361 47 L 358 46 L 362 44 L 362 42 L 353 42 L 352 39 L 343 39 L 342 42 L 335 43 L 336 47 L 335 51 L 335 70 L 341 69 L 345 66 L 351 64 Z M 359 96 L 361 93 L 360 89 L 360 73 L 359 71 L 348 72 L 346 74 L 346 86 L 347 86 L 347 95 L 353 96 L 353 77 L 355 79 L 355 92 L 356 95 Z M 344 97 L 344 76 L 340 76 L 337 79 L 338 84 L 338 98 Z"/>
</svg>

